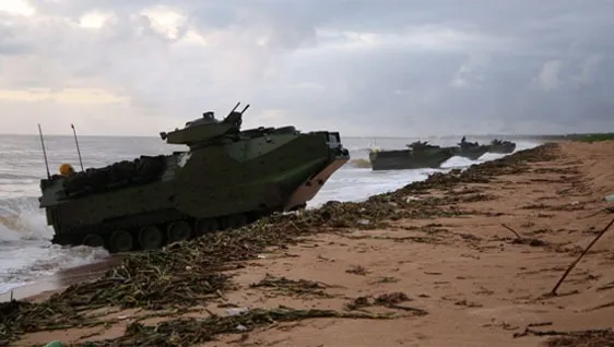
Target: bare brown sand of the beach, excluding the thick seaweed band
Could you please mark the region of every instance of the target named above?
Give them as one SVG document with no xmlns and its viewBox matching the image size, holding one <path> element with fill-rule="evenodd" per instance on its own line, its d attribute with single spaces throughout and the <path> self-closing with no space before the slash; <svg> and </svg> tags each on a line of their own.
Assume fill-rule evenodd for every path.
<svg viewBox="0 0 614 347">
<path fill-rule="evenodd" d="M 535 336 L 533 330 L 614 327 L 614 230 L 580 261 L 558 296 L 548 296 L 614 217 L 604 211 L 614 205 L 604 201 L 614 193 L 614 142 L 560 143 L 552 151 L 558 158 L 532 163 L 528 172 L 457 186 L 457 192 L 485 194 L 462 203 L 473 214 L 316 235 L 247 262 L 235 271 L 237 290 L 189 314 L 226 314 L 232 306 L 347 311 L 347 304 L 366 304 L 364 310 L 395 312 L 398 318 L 275 323 L 244 334 L 237 330 L 201 346 L 539 346 L 551 336 Z M 414 198 L 425 195 L 408 196 Z M 293 286 L 281 277 L 305 283 Z M 250 286 L 264 278 L 271 286 Z M 381 295 L 389 296 L 374 304 L 373 298 Z M 109 313 L 121 320 L 107 327 L 31 333 L 14 345 L 115 338 L 134 312 Z"/>
</svg>

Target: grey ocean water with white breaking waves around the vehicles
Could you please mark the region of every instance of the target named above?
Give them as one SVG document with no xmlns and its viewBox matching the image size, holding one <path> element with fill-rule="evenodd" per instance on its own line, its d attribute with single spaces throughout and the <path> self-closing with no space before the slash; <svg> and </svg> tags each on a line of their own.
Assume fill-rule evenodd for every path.
<svg viewBox="0 0 614 347">
<path fill-rule="evenodd" d="M 352 159 L 368 158 L 369 147 L 404 148 L 417 139 L 342 137 L 351 151 Z M 433 141 L 451 145 L 453 141 Z M 101 167 L 139 155 L 155 155 L 181 151 L 184 146 L 165 144 L 160 137 L 82 136 L 79 139 L 83 166 Z M 80 167 L 74 137 L 45 136 L 51 174 L 62 163 Z M 536 142 L 517 142 L 517 149 L 531 148 Z M 486 153 L 476 161 L 452 157 L 440 170 L 371 171 L 352 161 L 339 169 L 321 191 L 308 203 L 317 207 L 330 200 L 361 201 L 373 194 L 399 189 L 408 183 L 424 180 L 435 171 L 469 167 L 503 157 Z M 0 294 L 26 285 L 35 278 L 51 275 L 60 270 L 103 261 L 109 254 L 87 247 L 59 247 L 51 244 L 52 229 L 47 226 L 44 211 L 38 207 L 39 179 L 46 176 L 40 140 L 35 135 L 0 135 Z"/>
</svg>

